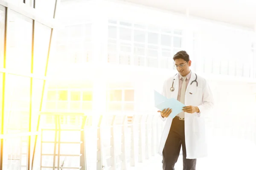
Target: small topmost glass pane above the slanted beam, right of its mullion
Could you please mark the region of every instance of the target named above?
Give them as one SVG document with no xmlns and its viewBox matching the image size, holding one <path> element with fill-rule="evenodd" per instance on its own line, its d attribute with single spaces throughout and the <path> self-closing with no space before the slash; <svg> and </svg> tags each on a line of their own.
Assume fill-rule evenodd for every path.
<svg viewBox="0 0 256 170">
<path fill-rule="evenodd" d="M 36 0 L 35 8 L 47 17 L 53 18 L 56 0 Z"/>
</svg>

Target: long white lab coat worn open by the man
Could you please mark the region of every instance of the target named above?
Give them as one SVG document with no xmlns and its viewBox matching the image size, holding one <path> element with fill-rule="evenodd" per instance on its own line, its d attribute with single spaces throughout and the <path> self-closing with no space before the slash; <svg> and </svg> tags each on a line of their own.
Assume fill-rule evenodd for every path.
<svg viewBox="0 0 256 170">
<path fill-rule="evenodd" d="M 174 78 L 175 80 L 173 87 L 175 88 L 175 91 L 170 91 Z M 185 105 L 198 106 L 200 113 L 191 114 L 185 112 L 185 143 L 187 159 L 196 159 L 207 156 L 204 116 L 207 113 L 207 111 L 213 106 L 212 92 L 206 80 L 203 77 L 198 76 L 197 74 L 198 87 L 196 86 L 196 82 L 193 82 L 192 85 L 190 85 L 190 83 L 193 80 L 195 80 L 195 73 L 192 72 L 189 84 L 186 88 Z M 162 94 L 163 96 L 166 96 L 168 99 L 177 99 L 178 89 L 179 74 L 170 77 L 164 82 Z M 163 147 L 166 143 L 166 139 L 169 134 L 170 127 L 172 125 L 172 118 L 162 118 L 161 115 L 160 118 L 163 121 L 166 121 L 158 150 L 159 154 L 162 155 Z"/>
</svg>

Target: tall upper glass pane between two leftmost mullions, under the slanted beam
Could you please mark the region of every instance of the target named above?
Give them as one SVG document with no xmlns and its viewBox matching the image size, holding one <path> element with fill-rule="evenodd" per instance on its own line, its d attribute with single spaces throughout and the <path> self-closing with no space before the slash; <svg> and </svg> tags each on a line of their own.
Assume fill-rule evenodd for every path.
<svg viewBox="0 0 256 170">
<path fill-rule="evenodd" d="M 6 68 L 31 72 L 32 19 L 9 10 Z"/>
</svg>

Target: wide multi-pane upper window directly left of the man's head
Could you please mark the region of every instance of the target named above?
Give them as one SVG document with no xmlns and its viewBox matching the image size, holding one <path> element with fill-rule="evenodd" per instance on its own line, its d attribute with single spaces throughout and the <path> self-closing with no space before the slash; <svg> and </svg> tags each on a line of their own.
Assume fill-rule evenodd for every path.
<svg viewBox="0 0 256 170">
<path fill-rule="evenodd" d="M 182 49 L 181 30 L 121 23 L 109 21 L 108 62 L 173 68 L 171 58 Z"/>
</svg>

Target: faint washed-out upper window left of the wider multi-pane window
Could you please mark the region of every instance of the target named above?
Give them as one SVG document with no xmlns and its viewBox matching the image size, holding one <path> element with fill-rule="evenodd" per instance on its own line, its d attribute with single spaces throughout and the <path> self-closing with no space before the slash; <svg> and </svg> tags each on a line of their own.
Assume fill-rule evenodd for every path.
<svg viewBox="0 0 256 170">
<path fill-rule="evenodd" d="M 92 62 L 91 27 L 91 23 L 86 23 L 58 30 L 55 62 Z"/>
</svg>

